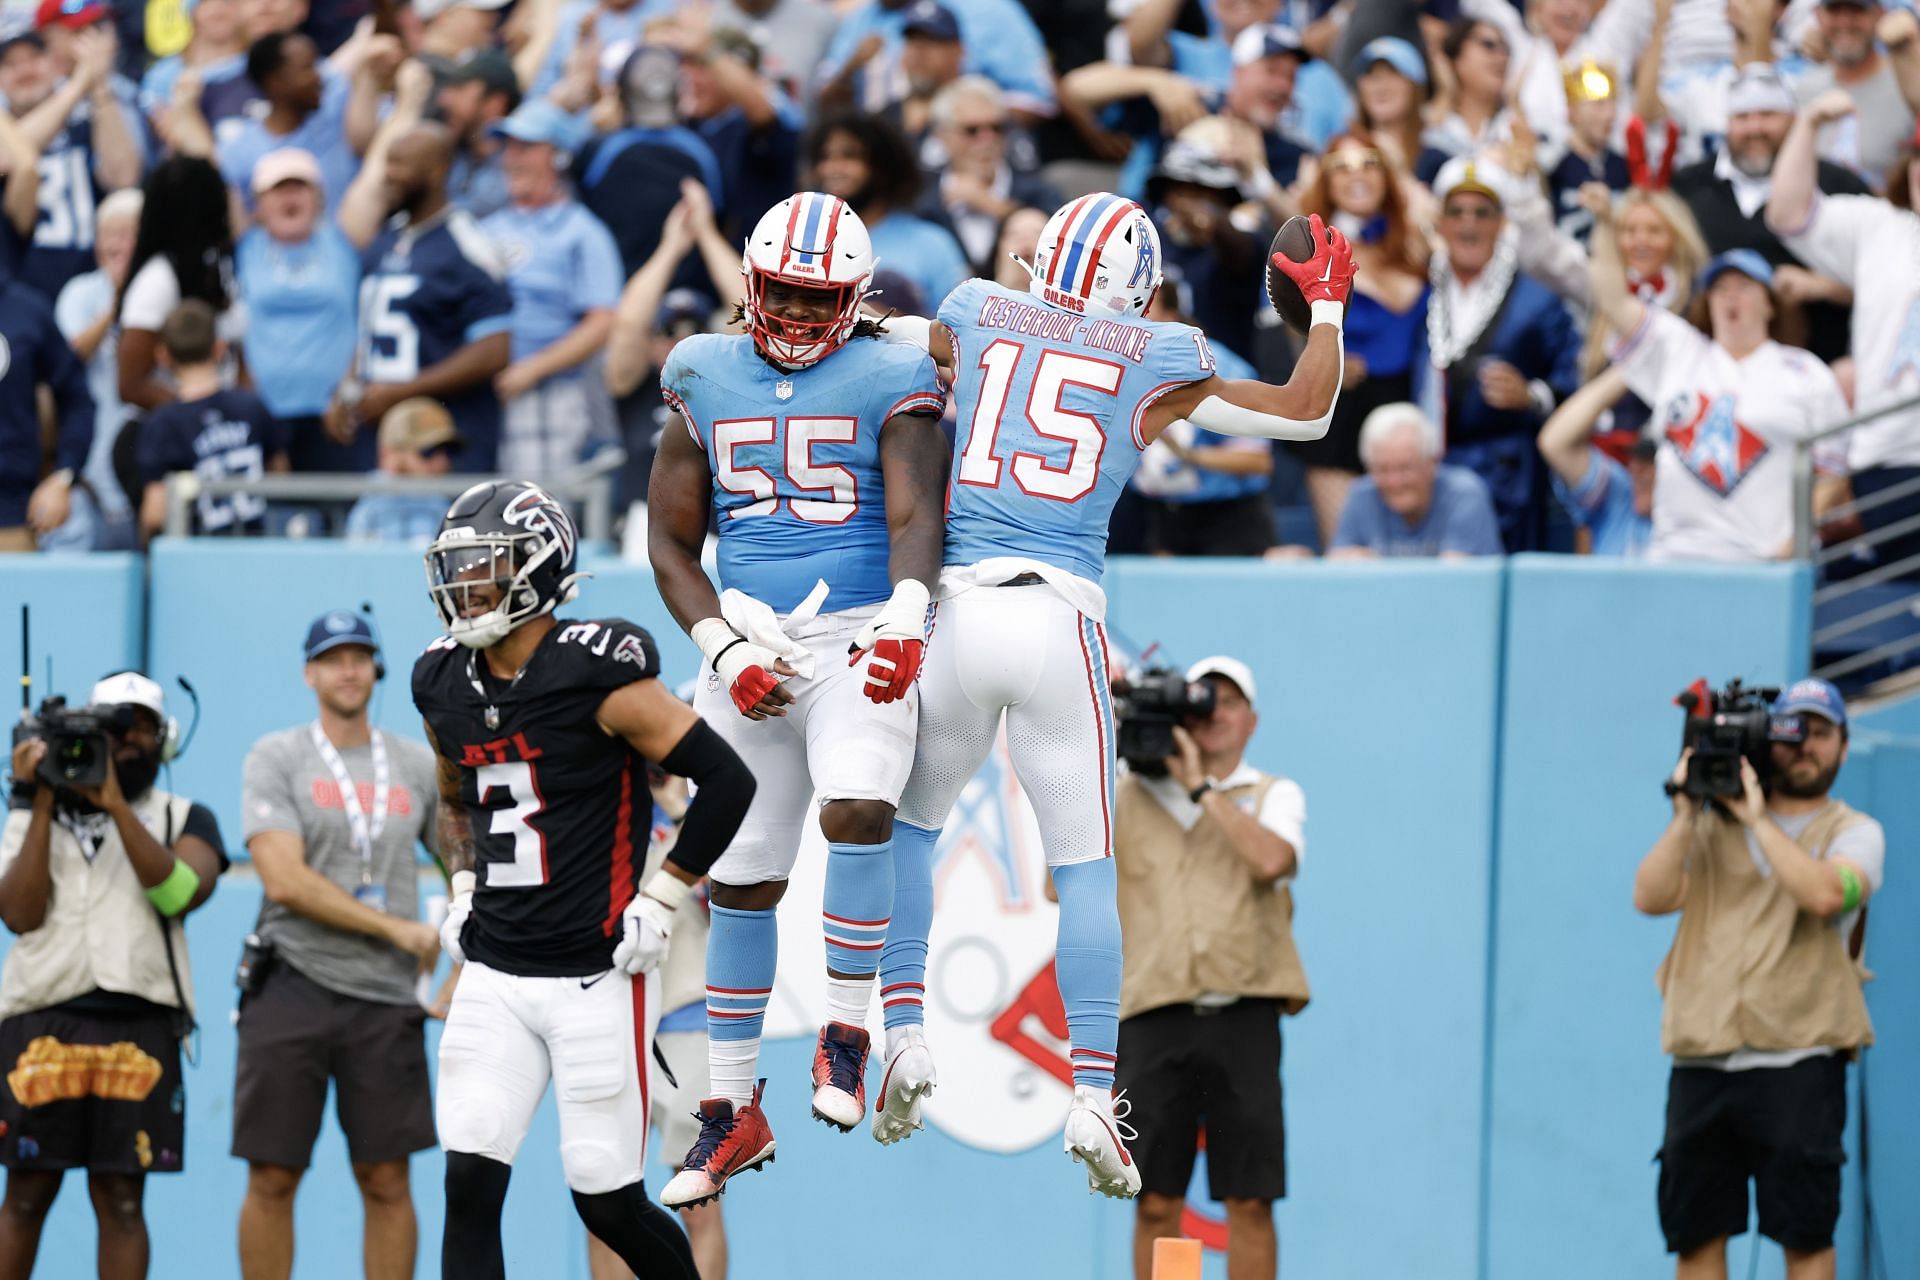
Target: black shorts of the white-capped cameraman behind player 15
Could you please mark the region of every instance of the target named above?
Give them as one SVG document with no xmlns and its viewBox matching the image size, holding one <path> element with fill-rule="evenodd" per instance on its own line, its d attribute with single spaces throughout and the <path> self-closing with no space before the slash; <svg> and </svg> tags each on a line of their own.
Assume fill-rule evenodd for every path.
<svg viewBox="0 0 1920 1280">
<path fill-rule="evenodd" d="M 1277 1000 L 1210 1011 L 1169 1004 L 1123 1019 L 1114 1088 L 1133 1102 L 1142 1190 L 1187 1196 L 1204 1140 L 1208 1196 L 1286 1196 Z"/>
</svg>

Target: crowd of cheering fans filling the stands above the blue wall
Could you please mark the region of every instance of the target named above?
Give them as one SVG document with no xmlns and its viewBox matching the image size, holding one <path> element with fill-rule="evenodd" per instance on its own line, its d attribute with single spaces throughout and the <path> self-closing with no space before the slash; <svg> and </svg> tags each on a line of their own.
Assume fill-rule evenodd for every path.
<svg viewBox="0 0 1920 1280">
<path fill-rule="evenodd" d="M 1154 315 L 1275 382 L 1267 242 L 1346 230 L 1327 438 L 1181 424 L 1121 553 L 1778 557 L 1795 443 L 1920 391 L 1920 21 L 1876 0 L 8 0 L 0 102 L 0 549 L 136 547 L 175 470 L 620 445 L 637 510 L 660 363 L 799 188 L 918 315 L 1117 190 Z M 1916 480 L 1920 416 L 1816 462 L 1818 510 Z M 430 528 L 372 489 L 332 532 Z"/>
</svg>

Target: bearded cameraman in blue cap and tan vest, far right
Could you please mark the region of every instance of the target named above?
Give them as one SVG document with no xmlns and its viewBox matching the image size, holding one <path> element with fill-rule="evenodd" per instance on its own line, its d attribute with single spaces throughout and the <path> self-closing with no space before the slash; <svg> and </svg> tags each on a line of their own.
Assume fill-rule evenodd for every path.
<svg viewBox="0 0 1920 1280">
<path fill-rule="evenodd" d="M 1740 754 L 1738 794 L 1711 800 L 1697 794 L 1711 741 L 1693 739 L 1668 787 L 1672 821 L 1634 877 L 1636 908 L 1680 912 L 1659 971 L 1661 1048 L 1674 1059 L 1659 1211 L 1680 1280 L 1726 1274 L 1749 1180 L 1788 1280 L 1834 1274 L 1847 1057 L 1874 1038 L 1862 904 L 1880 889 L 1885 835 L 1828 794 L 1847 760 L 1847 706 L 1803 679 L 1774 702 L 1766 737 Z"/>
</svg>

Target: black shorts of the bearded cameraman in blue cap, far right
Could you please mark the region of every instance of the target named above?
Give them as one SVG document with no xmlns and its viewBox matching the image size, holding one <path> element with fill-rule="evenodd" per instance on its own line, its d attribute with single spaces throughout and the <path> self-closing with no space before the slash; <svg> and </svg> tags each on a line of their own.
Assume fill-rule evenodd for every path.
<svg viewBox="0 0 1920 1280">
<path fill-rule="evenodd" d="M 1661 1146 L 1661 1230 L 1668 1253 L 1692 1253 L 1747 1230 L 1747 1182 L 1761 1234 L 1816 1253 L 1839 1222 L 1847 1061 L 1715 1071 L 1674 1067 Z"/>
</svg>

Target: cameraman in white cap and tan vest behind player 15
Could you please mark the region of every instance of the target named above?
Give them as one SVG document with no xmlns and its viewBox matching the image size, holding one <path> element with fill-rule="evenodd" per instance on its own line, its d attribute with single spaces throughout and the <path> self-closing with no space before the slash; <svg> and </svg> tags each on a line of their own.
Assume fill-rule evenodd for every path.
<svg viewBox="0 0 1920 1280">
<path fill-rule="evenodd" d="M 1116 1088 L 1135 1103 L 1144 1178 L 1133 1267 L 1146 1280 L 1154 1240 L 1181 1234 L 1204 1123 L 1208 1194 L 1227 1203 L 1227 1270 L 1271 1276 L 1273 1201 L 1286 1194 L 1281 1013 L 1308 1004 L 1286 889 L 1306 796 L 1242 764 L 1260 723 L 1244 662 L 1206 658 L 1187 679 L 1212 689 L 1212 712 L 1173 727 L 1164 775 L 1121 779 L 1114 812 L 1127 938 Z"/>
</svg>

